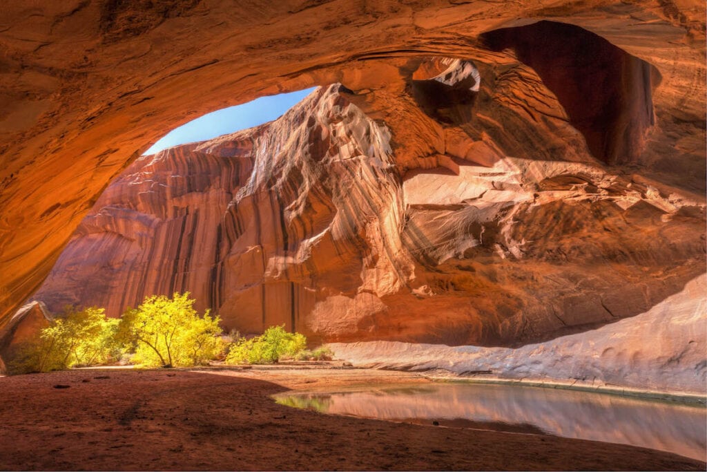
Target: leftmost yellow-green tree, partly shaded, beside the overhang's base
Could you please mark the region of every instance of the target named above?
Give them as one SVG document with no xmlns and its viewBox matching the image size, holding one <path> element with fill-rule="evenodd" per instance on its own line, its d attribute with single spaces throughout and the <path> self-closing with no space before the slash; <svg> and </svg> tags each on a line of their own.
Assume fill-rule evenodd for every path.
<svg viewBox="0 0 707 472">
<path fill-rule="evenodd" d="M 105 364 L 120 355 L 120 345 L 115 340 L 117 324 L 117 319 L 105 317 L 102 308 L 66 308 L 35 340 L 18 348 L 10 370 L 49 372 Z"/>
</svg>

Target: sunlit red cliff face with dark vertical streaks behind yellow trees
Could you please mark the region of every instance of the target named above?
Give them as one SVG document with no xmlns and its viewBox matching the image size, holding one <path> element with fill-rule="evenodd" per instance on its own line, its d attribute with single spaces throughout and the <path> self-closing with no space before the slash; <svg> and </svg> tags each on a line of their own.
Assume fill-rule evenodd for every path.
<svg viewBox="0 0 707 472">
<path fill-rule="evenodd" d="M 345 326 L 347 311 L 375 313 L 414 270 L 399 237 L 401 185 L 387 127 L 338 91 L 320 89 L 276 122 L 136 161 L 35 297 L 118 316 L 148 294 L 188 290 L 246 333 L 286 323 L 324 334 Z"/>
</svg>

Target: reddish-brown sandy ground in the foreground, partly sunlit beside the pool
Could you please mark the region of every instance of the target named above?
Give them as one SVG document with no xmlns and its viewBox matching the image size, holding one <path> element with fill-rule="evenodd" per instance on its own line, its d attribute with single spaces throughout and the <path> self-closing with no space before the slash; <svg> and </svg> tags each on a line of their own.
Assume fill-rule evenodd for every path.
<svg viewBox="0 0 707 472">
<path fill-rule="evenodd" d="M 270 398 L 288 388 L 423 382 L 416 374 L 332 368 L 3 377 L 0 469 L 706 469 L 650 449 L 322 415 Z"/>
</svg>

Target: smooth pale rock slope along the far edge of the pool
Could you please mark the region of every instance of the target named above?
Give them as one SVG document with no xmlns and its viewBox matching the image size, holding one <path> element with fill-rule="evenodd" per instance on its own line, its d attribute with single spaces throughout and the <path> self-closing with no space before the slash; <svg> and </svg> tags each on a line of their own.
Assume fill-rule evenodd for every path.
<svg viewBox="0 0 707 472">
<path fill-rule="evenodd" d="M 706 290 L 707 277 L 701 275 L 638 316 L 518 349 L 387 341 L 329 347 L 358 366 L 443 369 L 477 379 L 560 381 L 585 388 L 632 387 L 703 396 Z"/>
</svg>

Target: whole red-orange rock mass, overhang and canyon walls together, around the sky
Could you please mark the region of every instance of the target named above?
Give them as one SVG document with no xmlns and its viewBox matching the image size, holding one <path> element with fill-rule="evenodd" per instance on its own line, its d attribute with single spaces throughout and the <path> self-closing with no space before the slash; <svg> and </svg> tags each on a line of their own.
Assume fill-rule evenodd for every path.
<svg viewBox="0 0 707 472">
<path fill-rule="evenodd" d="M 77 226 L 52 310 L 189 290 L 247 333 L 485 346 L 647 312 L 706 270 L 703 21 L 692 1 L 13 2 L 0 330 Z M 313 84 L 99 198 L 169 128 Z"/>
</svg>

